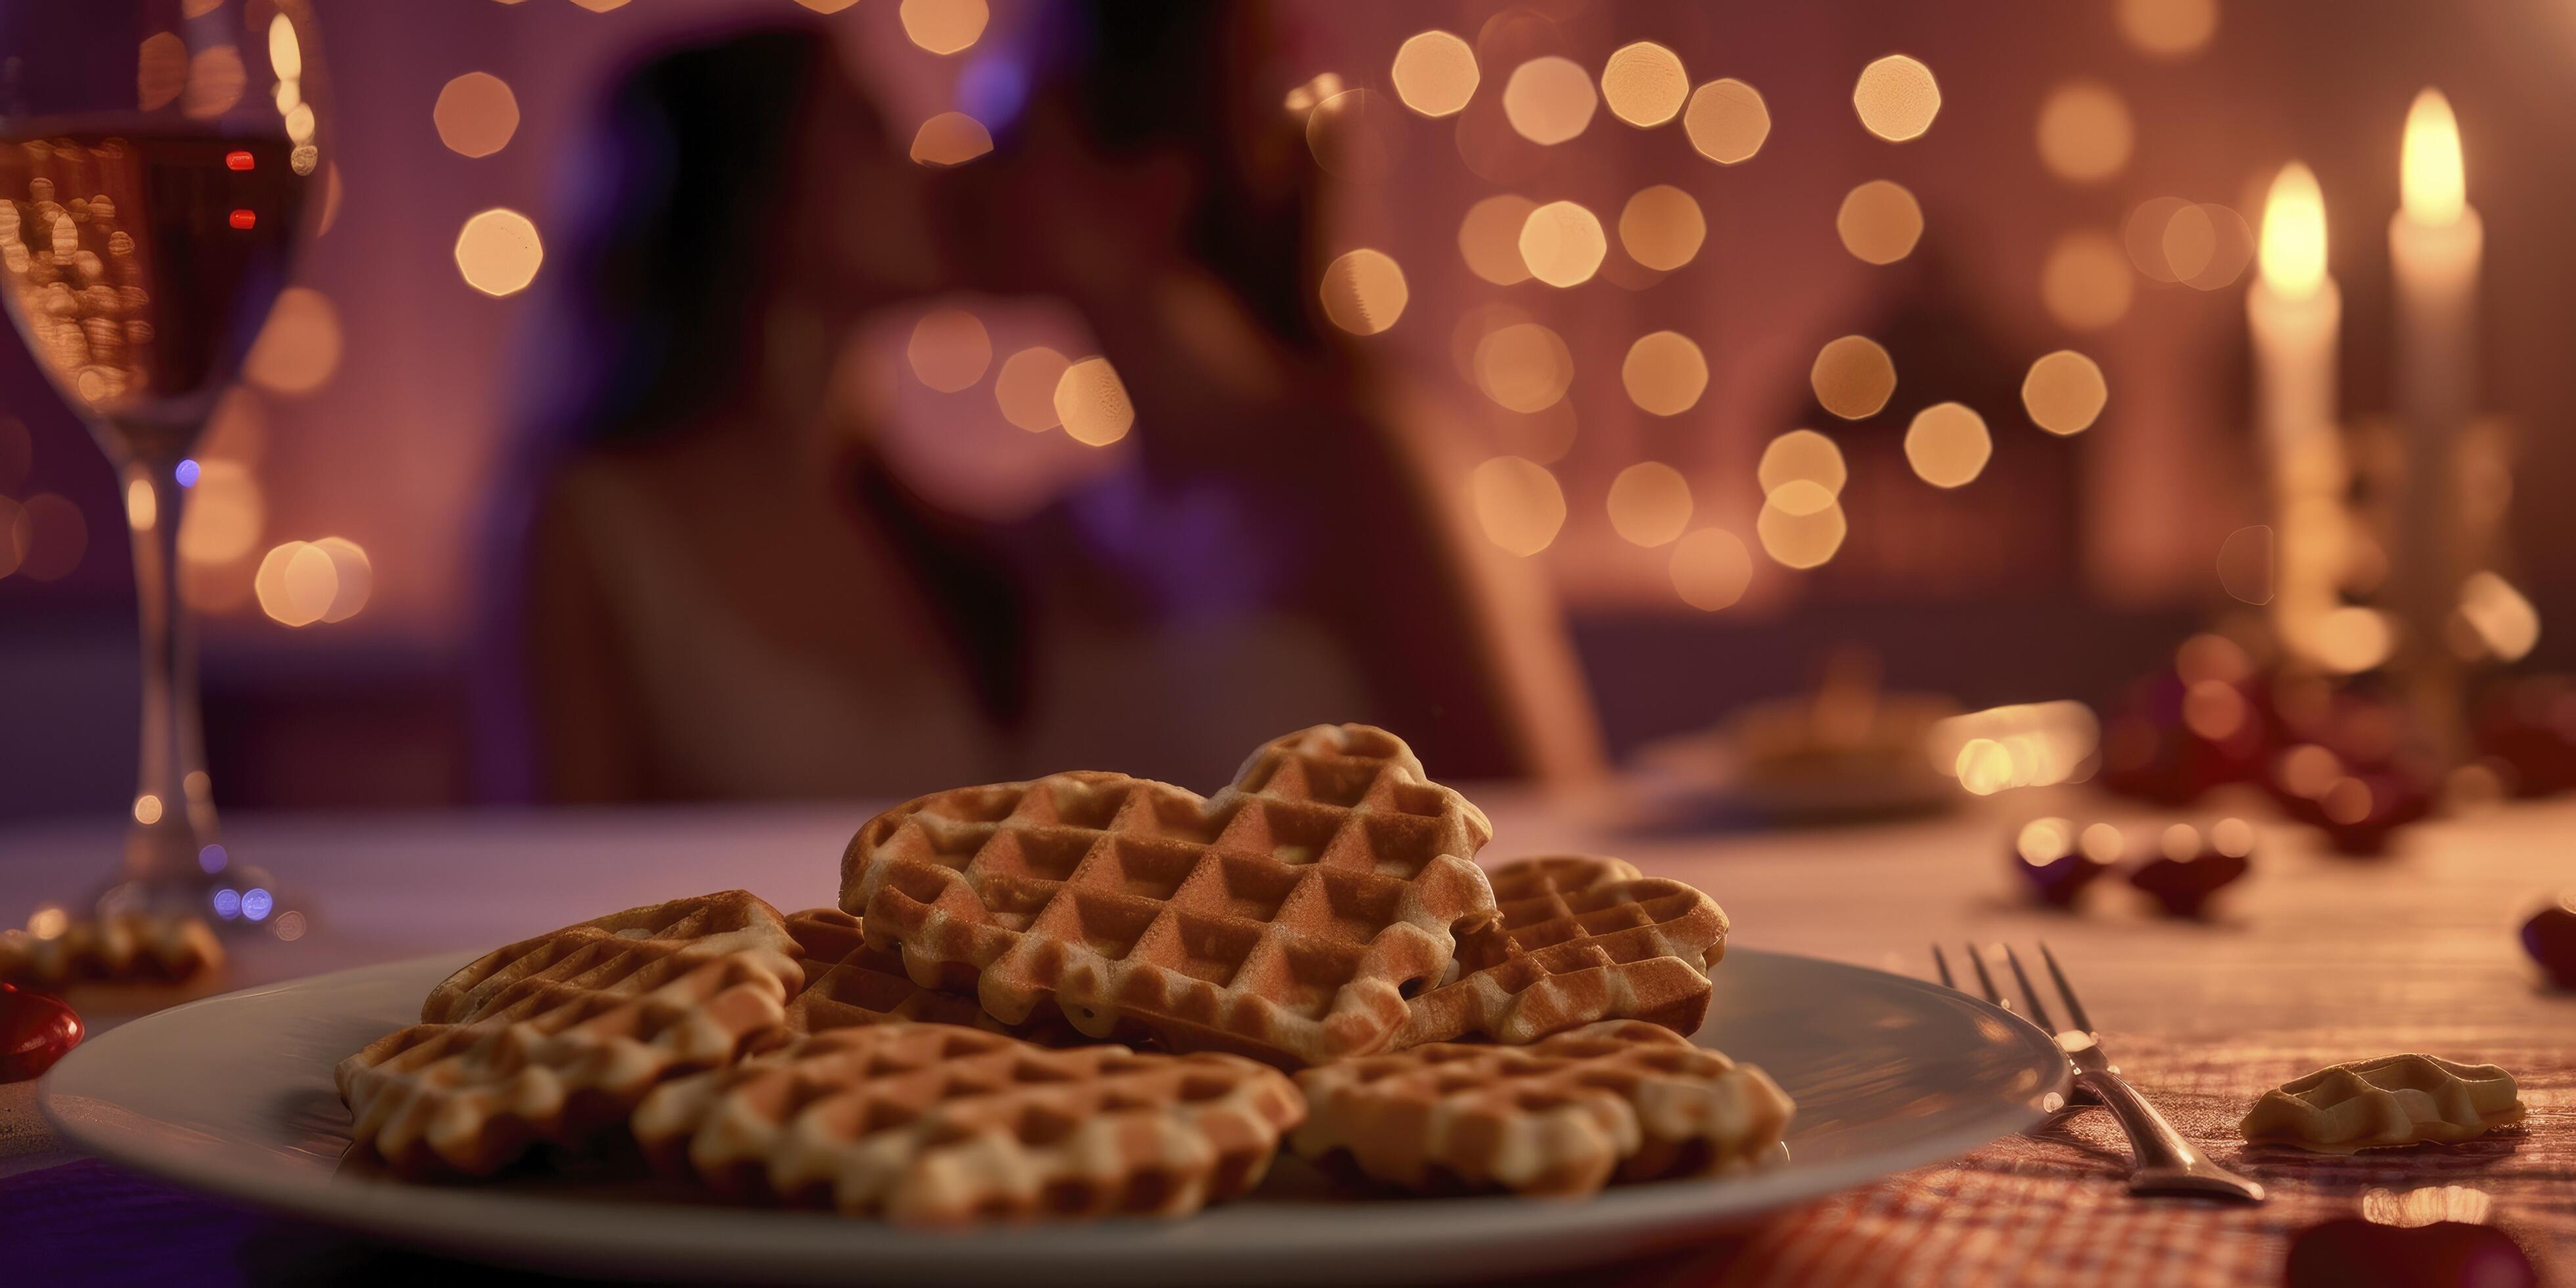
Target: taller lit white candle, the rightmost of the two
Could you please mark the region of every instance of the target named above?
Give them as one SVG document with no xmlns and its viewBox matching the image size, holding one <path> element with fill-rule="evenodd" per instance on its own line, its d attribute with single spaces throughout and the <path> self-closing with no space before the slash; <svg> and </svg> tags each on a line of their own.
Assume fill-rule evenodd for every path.
<svg viewBox="0 0 2576 1288">
<path fill-rule="evenodd" d="M 2396 410 L 2406 446 L 2391 549 L 2393 605 L 2406 618 L 2409 688 L 2437 755 L 2458 750 L 2460 683 L 2442 644 L 2460 603 L 2460 440 L 2478 402 L 2478 255 L 2486 229 L 2468 204 L 2460 124 L 2442 90 L 2406 113 L 2398 155 L 2406 204 L 2388 222 L 2396 265 Z"/>
</svg>

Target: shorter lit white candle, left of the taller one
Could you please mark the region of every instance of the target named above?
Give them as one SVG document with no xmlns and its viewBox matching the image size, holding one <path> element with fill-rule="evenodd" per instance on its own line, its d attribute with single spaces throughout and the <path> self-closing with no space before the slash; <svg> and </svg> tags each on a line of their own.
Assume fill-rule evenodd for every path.
<svg viewBox="0 0 2576 1288">
<path fill-rule="evenodd" d="M 2344 572 L 2344 448 L 2334 422 L 2344 299 L 2326 273 L 2326 198 L 2306 165 L 2290 162 L 2272 180 L 2259 260 L 2246 319 L 2254 417 L 2272 482 L 2272 629 L 2290 657 L 2313 662 Z"/>
</svg>

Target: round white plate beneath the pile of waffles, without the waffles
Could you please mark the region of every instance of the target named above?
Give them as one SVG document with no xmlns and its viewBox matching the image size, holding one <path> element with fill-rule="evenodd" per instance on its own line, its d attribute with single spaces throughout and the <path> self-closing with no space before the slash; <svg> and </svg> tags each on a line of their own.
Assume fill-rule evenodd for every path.
<svg viewBox="0 0 2576 1288">
<path fill-rule="evenodd" d="M 1345 1200 L 1280 1159 L 1190 1221 L 920 1234 L 827 1213 L 683 1206 L 562 1182 L 402 1185 L 343 1175 L 332 1064 L 415 1023 L 459 961 L 422 958 L 173 1007 L 72 1051 L 39 1087 L 80 1146 L 263 1208 L 451 1255 L 721 1280 L 1255 1283 L 1543 1273 L 1669 1247 L 2040 1121 L 2066 1059 L 2038 1028 L 1935 984 L 1736 948 L 1700 1041 L 1798 1097 L 1788 1162 L 1577 1203 Z"/>
</svg>

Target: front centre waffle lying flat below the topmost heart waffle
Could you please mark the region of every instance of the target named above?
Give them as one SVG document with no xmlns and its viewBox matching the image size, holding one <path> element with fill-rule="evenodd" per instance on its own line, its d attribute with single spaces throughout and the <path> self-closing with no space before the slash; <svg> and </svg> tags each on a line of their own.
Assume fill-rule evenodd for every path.
<svg viewBox="0 0 2576 1288">
<path fill-rule="evenodd" d="M 958 1226 L 1188 1216 L 1257 1185 L 1303 1113 L 1285 1074 L 1239 1056 L 891 1023 L 670 1082 L 634 1133 L 734 1195 Z"/>
</svg>

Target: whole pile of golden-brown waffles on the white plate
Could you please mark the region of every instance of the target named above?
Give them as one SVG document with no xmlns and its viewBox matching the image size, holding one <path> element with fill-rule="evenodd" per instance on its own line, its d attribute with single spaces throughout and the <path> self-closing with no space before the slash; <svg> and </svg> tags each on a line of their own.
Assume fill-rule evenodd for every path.
<svg viewBox="0 0 2576 1288">
<path fill-rule="evenodd" d="M 1283 1144 L 1376 1188 L 1548 1195 L 1767 1157 L 1788 1097 L 1687 1041 L 1718 904 L 1615 858 L 1486 873 L 1486 840 L 1358 724 L 1216 796 L 940 791 L 858 829 L 837 909 L 729 891 L 515 943 L 340 1090 L 397 1172 L 623 1149 L 943 1226 L 1180 1216 Z"/>
</svg>

